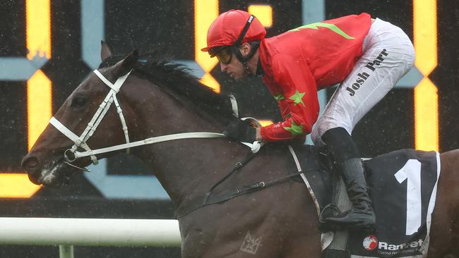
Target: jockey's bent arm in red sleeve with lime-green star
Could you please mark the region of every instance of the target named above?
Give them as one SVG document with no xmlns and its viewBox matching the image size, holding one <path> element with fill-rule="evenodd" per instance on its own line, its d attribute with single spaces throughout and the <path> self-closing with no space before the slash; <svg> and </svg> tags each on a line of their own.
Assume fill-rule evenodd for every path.
<svg viewBox="0 0 459 258">
<path fill-rule="evenodd" d="M 262 127 L 259 133 L 263 141 L 291 140 L 311 133 L 318 118 L 316 81 L 306 61 L 301 56 L 279 55 L 272 63 L 276 85 L 270 88 L 281 89 L 272 93 L 284 121 Z"/>
</svg>

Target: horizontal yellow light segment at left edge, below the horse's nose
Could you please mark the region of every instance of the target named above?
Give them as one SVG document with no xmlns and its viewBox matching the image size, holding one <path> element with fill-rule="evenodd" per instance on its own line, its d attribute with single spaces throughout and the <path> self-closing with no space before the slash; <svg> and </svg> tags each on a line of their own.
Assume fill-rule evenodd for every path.
<svg viewBox="0 0 459 258">
<path fill-rule="evenodd" d="M 2 198 L 29 198 L 41 188 L 40 185 L 30 183 L 27 174 L 11 173 L 11 171 L 0 173 L 0 197 Z"/>
</svg>

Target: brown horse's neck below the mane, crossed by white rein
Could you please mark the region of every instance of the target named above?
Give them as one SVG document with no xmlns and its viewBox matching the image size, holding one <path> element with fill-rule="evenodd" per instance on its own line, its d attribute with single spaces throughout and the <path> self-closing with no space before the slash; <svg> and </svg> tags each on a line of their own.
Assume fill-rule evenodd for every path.
<svg viewBox="0 0 459 258">
<path fill-rule="evenodd" d="M 143 124 L 138 137 L 222 132 L 223 125 L 198 116 L 156 85 L 148 85 L 145 90 L 149 92 L 138 96 L 141 99 L 129 100 L 138 110 L 136 120 Z M 145 99 L 145 96 L 150 96 L 150 99 Z M 169 197 L 179 205 L 186 199 L 203 195 L 246 153 L 246 147 L 227 138 L 204 138 L 148 145 L 136 155 L 150 166 Z"/>
</svg>

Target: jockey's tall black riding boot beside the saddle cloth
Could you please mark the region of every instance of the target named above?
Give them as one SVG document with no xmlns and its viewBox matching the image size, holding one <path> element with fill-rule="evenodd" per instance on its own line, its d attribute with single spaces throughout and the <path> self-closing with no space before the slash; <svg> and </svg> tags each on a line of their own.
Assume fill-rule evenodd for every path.
<svg viewBox="0 0 459 258">
<path fill-rule="evenodd" d="M 326 131 L 322 140 L 328 146 L 340 168 L 342 180 L 352 204 L 349 211 L 335 217 L 328 217 L 325 221 L 336 226 L 371 230 L 374 228 L 376 219 L 357 146 L 344 128 L 333 128 Z"/>
</svg>

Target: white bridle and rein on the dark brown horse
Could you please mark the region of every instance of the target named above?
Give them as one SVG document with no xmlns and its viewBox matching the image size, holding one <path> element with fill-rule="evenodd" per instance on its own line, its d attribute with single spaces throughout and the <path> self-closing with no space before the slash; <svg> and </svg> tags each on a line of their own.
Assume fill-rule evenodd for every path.
<svg viewBox="0 0 459 258">
<path fill-rule="evenodd" d="M 67 162 L 72 162 L 75 161 L 78 158 L 84 157 L 84 156 L 90 156 L 90 159 L 93 161 L 93 164 L 97 164 L 97 157 L 95 155 L 97 154 L 102 154 L 106 152 L 113 152 L 121 149 L 126 149 L 129 152 L 129 148 L 131 147 L 138 147 L 142 145 L 151 145 L 153 143 L 157 142 L 166 142 L 170 140 L 180 140 L 180 139 L 191 139 L 191 138 L 216 138 L 216 137 L 226 137 L 222 133 L 207 133 L 207 132 L 197 132 L 197 133 L 177 133 L 173 135 L 163 135 L 163 136 L 157 136 L 157 137 L 150 137 L 145 140 L 139 140 L 136 142 L 129 142 L 129 133 L 128 133 L 128 128 L 126 125 L 126 121 L 124 119 L 123 111 L 121 110 L 121 106 L 119 105 L 119 102 L 117 100 L 117 93 L 119 92 L 119 89 L 121 86 L 124 84 L 124 81 L 128 78 L 129 73 L 126 73 L 126 75 L 121 76 L 120 78 L 117 79 L 117 81 L 112 84 L 107 78 L 102 75 L 99 70 L 94 70 L 95 75 L 97 75 L 102 82 L 105 83 L 108 87 L 110 87 L 110 91 L 107 94 L 107 97 L 102 101 L 102 104 L 100 104 L 99 109 L 95 112 L 93 118 L 91 118 L 90 122 L 88 123 L 88 126 L 86 126 L 85 130 L 83 133 L 78 136 L 75 133 L 73 133 L 71 130 L 66 128 L 65 125 L 63 125 L 60 121 L 58 121 L 54 116 L 51 118 L 49 123 L 54 125 L 54 127 L 59 130 L 62 134 L 66 135 L 68 139 L 72 140 L 74 142 L 73 146 L 70 149 L 66 149 L 64 152 L 64 158 L 66 159 Z M 115 106 L 117 107 L 117 112 L 119 114 L 119 119 L 121 121 L 121 127 L 123 128 L 124 132 L 124 137 L 126 139 L 126 143 L 121 144 L 121 145 L 114 145 L 112 147 L 105 147 L 101 149 L 90 149 L 88 144 L 86 142 L 88 141 L 89 137 L 93 135 L 95 130 L 97 129 L 97 126 L 100 124 L 102 121 L 102 118 L 104 118 L 105 114 L 109 110 L 109 107 L 111 106 L 112 102 L 114 102 Z M 244 145 L 248 146 L 251 148 L 252 152 L 258 152 L 260 149 L 261 142 L 254 142 L 253 144 L 249 142 L 242 142 Z M 77 149 L 78 147 L 81 147 L 85 149 L 84 152 L 78 152 Z M 73 154 L 73 158 L 69 157 L 68 154 Z"/>
</svg>

